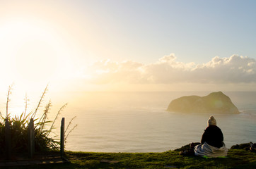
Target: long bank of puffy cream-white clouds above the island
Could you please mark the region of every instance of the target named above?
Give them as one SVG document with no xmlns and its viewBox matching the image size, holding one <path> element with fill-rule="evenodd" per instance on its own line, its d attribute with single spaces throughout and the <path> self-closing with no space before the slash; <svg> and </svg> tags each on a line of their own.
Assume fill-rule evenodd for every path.
<svg viewBox="0 0 256 169">
<path fill-rule="evenodd" d="M 86 68 L 93 84 L 175 84 L 175 83 L 249 83 L 256 82 L 254 58 L 233 55 L 214 57 L 208 63 L 182 63 L 176 56 L 163 56 L 156 63 L 98 61 Z"/>
</svg>

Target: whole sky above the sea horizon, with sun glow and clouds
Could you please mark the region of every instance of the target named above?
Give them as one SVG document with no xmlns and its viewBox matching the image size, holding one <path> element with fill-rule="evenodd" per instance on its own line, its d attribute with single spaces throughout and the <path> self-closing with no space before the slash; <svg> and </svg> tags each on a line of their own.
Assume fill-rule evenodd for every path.
<svg viewBox="0 0 256 169">
<path fill-rule="evenodd" d="M 0 91 L 255 91 L 256 1 L 0 1 Z"/>
</svg>

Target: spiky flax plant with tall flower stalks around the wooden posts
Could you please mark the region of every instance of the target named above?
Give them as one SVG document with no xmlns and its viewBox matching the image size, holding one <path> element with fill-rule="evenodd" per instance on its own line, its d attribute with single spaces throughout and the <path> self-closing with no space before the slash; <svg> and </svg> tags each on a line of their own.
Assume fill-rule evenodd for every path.
<svg viewBox="0 0 256 169">
<path fill-rule="evenodd" d="M 8 113 L 8 105 L 10 102 L 12 85 L 8 88 L 6 101 L 6 116 L 4 117 L 0 112 L 0 152 L 5 151 L 6 120 L 8 120 L 8 123 L 10 125 L 12 152 L 16 154 L 28 150 L 28 124 L 30 122 L 30 118 L 34 119 L 35 151 L 59 150 L 60 142 L 50 137 L 50 133 L 52 132 L 52 129 L 54 129 L 54 123 L 56 122 L 57 117 L 64 110 L 67 104 L 64 104 L 64 106 L 62 106 L 62 108 L 59 109 L 57 115 L 52 121 L 48 120 L 48 114 L 50 113 L 50 108 L 52 106 L 51 101 L 49 101 L 48 104 L 45 106 L 45 109 L 42 111 L 42 115 L 40 116 L 40 118 L 37 118 L 36 115 L 40 111 L 40 107 L 42 107 L 43 99 L 45 97 L 45 94 L 47 93 L 47 87 L 45 87 L 45 90 L 42 93 L 42 96 L 40 97 L 40 101 L 38 102 L 35 111 L 27 113 L 28 97 L 25 96 L 25 111 L 23 111 L 21 115 L 15 115 L 14 117 L 11 117 L 11 114 Z M 71 122 L 69 122 L 69 125 L 70 123 Z M 73 130 L 74 128 L 71 131 Z M 69 133 L 71 131 L 69 131 Z M 67 134 L 67 136 L 68 135 L 69 134 Z"/>
</svg>

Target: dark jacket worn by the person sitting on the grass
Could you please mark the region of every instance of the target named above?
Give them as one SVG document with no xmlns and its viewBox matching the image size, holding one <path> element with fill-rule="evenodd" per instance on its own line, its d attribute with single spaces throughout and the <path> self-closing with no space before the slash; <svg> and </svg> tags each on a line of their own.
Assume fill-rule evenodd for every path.
<svg viewBox="0 0 256 169">
<path fill-rule="evenodd" d="M 216 125 L 209 125 L 202 135 L 201 144 L 207 144 L 220 148 L 223 146 L 223 133 Z"/>
</svg>

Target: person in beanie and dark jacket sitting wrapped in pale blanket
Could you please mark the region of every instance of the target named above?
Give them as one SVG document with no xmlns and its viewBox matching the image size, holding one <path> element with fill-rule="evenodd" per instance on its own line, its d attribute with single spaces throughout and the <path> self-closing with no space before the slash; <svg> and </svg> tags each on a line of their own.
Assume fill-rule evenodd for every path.
<svg viewBox="0 0 256 169">
<path fill-rule="evenodd" d="M 223 142 L 223 133 L 216 126 L 214 116 L 211 116 L 207 121 L 208 127 L 204 130 L 201 144 L 194 146 L 194 154 L 207 158 L 227 156 L 228 149 Z"/>
</svg>

